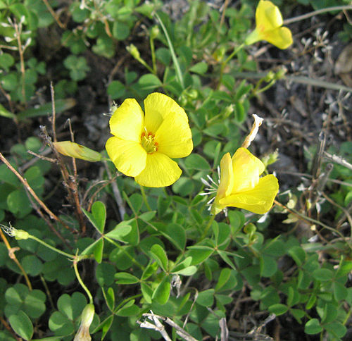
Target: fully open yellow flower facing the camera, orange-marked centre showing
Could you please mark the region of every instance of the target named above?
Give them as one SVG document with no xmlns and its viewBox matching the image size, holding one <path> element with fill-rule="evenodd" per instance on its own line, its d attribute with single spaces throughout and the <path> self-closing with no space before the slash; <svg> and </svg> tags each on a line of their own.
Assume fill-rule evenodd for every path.
<svg viewBox="0 0 352 341">
<path fill-rule="evenodd" d="M 140 185 L 172 185 L 182 173 L 175 161 L 191 153 L 187 113 L 170 97 L 154 92 L 144 99 L 143 113 L 135 99 L 125 99 L 110 119 L 114 136 L 106 142 L 118 171 Z"/>
</svg>

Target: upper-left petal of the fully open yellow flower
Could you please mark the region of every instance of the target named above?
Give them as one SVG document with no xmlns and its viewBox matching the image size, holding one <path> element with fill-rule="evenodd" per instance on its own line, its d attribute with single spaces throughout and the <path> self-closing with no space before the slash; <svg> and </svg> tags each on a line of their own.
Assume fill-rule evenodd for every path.
<svg viewBox="0 0 352 341">
<path fill-rule="evenodd" d="M 125 99 L 110 119 L 111 134 L 122 140 L 140 142 L 143 128 L 144 113 L 135 99 Z"/>
</svg>

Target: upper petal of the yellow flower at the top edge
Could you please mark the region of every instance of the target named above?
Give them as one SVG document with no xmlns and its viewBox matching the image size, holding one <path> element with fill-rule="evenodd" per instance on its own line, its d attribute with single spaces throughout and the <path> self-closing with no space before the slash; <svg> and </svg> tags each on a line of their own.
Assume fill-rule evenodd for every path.
<svg viewBox="0 0 352 341">
<path fill-rule="evenodd" d="M 256 26 L 260 31 L 270 31 L 282 26 L 279 8 L 271 1 L 260 0 L 256 9 Z"/>
</svg>

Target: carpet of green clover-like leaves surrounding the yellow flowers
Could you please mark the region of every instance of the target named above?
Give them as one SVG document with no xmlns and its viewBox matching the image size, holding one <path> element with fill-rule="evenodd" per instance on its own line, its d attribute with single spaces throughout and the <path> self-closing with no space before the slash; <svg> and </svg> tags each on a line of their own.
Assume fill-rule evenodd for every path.
<svg viewBox="0 0 352 341">
<path fill-rule="evenodd" d="M 144 330 L 137 324 L 148 311 L 169 317 L 196 340 L 205 335 L 215 339 L 220 335 L 222 318 L 237 322 L 234 320 L 249 314 L 243 298 L 243 302 L 251 304 L 252 311 L 291 318 L 304 325 L 308 335 L 320 333 L 330 340 L 341 339 L 352 306 L 352 290 L 347 285 L 352 269 L 348 258 L 351 242 L 348 244 L 343 235 L 331 244 L 308 242 L 308 237 L 298 238 L 291 233 L 287 228 L 290 225 L 285 225 L 285 233 L 272 238 L 269 227 L 273 230 L 288 208 L 275 207 L 273 214 L 260 220 L 253 214 L 229 211 L 227 217 L 211 222 L 207 199 L 197 195 L 203 190 L 201 178 L 214 174 L 215 179 L 221 156 L 227 151 L 233 154 L 240 146 L 249 100 L 282 77 L 278 71 L 256 84 L 238 80 L 239 72 L 256 70 L 246 49 L 238 51 L 236 61 L 231 61 L 229 70 L 222 74 L 227 56 L 243 42 L 253 25 L 252 1 L 242 1 L 237 9 L 226 8 L 223 19 L 206 2 L 190 1 L 189 10 L 176 23 L 165 13 L 158 13 L 156 26 L 151 25 L 151 18 L 153 11 L 161 8 L 161 2 L 141 2 L 73 1 L 65 9 L 74 27 L 69 30 L 46 7 L 56 10 L 56 1 L 47 5 L 46 1 L 36 0 L 0 1 L 0 32 L 8 37 L 4 42 L 7 50 L 0 55 L 0 84 L 10 99 L 7 109 L 0 105 L 0 115 L 19 122 L 44 116 L 51 109 L 51 104 L 23 109 L 34 99 L 39 77 L 46 73 L 46 62 L 31 55 L 40 28 L 59 24 L 65 27 L 57 47 L 67 49 L 57 66 L 57 70 L 62 69 L 58 73 L 60 82 L 55 85 L 56 112 L 60 112 L 74 105 L 68 96 L 73 96 L 77 82 L 83 81 L 91 70 L 86 52 L 113 58 L 118 46 L 134 42 L 132 33 L 140 29 L 140 22 L 146 23 L 144 37 L 149 38 L 150 65 L 142 53 L 146 51 L 145 44 L 138 44 L 136 39 L 137 47 L 128 49 L 140 68 L 146 67 L 146 73 L 125 68 L 123 77 L 108 83 L 106 92 L 111 99 L 121 101 L 127 97 L 143 99 L 160 90 L 178 100 L 189 115 L 194 140 L 194 152 L 179 161 L 182 177 L 170 189 L 149 189 L 142 194 L 132 179 L 117 178 L 127 211 L 121 219 L 112 209 L 115 189 L 110 174 L 115 173 L 115 168 L 108 165 L 103 185 L 87 185 L 94 204 L 80 203 L 81 214 L 90 223 L 84 234 L 82 220 L 67 208 L 57 211 L 65 212 L 58 218 L 70 229 L 57 221 L 54 229 L 49 228 L 47 220 L 34 214 L 37 203 L 2 164 L 0 222 L 8 225 L 11 220 L 16 228 L 49 246 L 72 254 L 77 251 L 82 256 L 78 269 L 96 306 L 90 329 L 95 340 L 160 338 L 155 330 Z M 321 4 L 326 6 L 323 2 L 310 4 L 317 4 L 318 8 Z M 53 202 L 52 189 L 46 180 L 57 166 L 27 153 L 39 153 L 41 148 L 37 137 L 29 137 L 25 143 L 13 145 L 8 159 L 49 205 Z M 340 152 L 346 161 L 352 161 L 351 143 L 346 142 Z M 330 176 L 344 184 L 351 183 L 351 174 L 344 166 L 335 167 Z M 350 205 L 351 186 L 329 186 L 340 207 Z M 291 201 L 299 196 L 305 197 L 306 193 L 291 189 Z M 284 195 L 280 199 L 287 202 Z M 61 201 L 65 201 L 64 195 Z M 322 212 L 336 207 L 324 202 Z M 302 213 L 293 207 L 289 212 L 291 223 L 300 221 Z M 336 209 L 334 213 L 335 221 L 339 221 L 344 210 Z M 308 230 L 310 225 L 306 225 Z M 20 266 L 8 257 L 6 243 L 1 243 L 1 316 L 24 340 L 51 335 L 51 340 L 72 340 L 87 304 L 76 285 L 72 263 L 31 239 L 12 240 L 11 247 L 19 248 L 15 257 Z M 23 274 L 30 278 L 27 285 L 18 283 Z M 11 328 L 1 327 L 0 340 L 15 340 Z M 175 329 L 172 337 L 177 340 Z"/>
</svg>

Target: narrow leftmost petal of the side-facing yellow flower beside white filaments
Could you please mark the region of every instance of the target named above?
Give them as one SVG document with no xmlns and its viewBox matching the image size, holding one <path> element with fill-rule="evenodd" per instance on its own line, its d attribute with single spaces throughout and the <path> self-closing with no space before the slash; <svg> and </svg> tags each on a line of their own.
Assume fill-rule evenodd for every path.
<svg viewBox="0 0 352 341">
<path fill-rule="evenodd" d="M 234 185 L 234 174 L 230 153 L 226 153 L 224 156 L 222 156 L 220 161 L 220 170 L 220 184 L 210 210 L 210 213 L 212 214 L 218 214 L 220 211 L 222 211 L 222 209 L 225 209 L 225 205 L 220 205 L 220 199 L 226 197 L 232 192 L 232 187 Z"/>
</svg>

